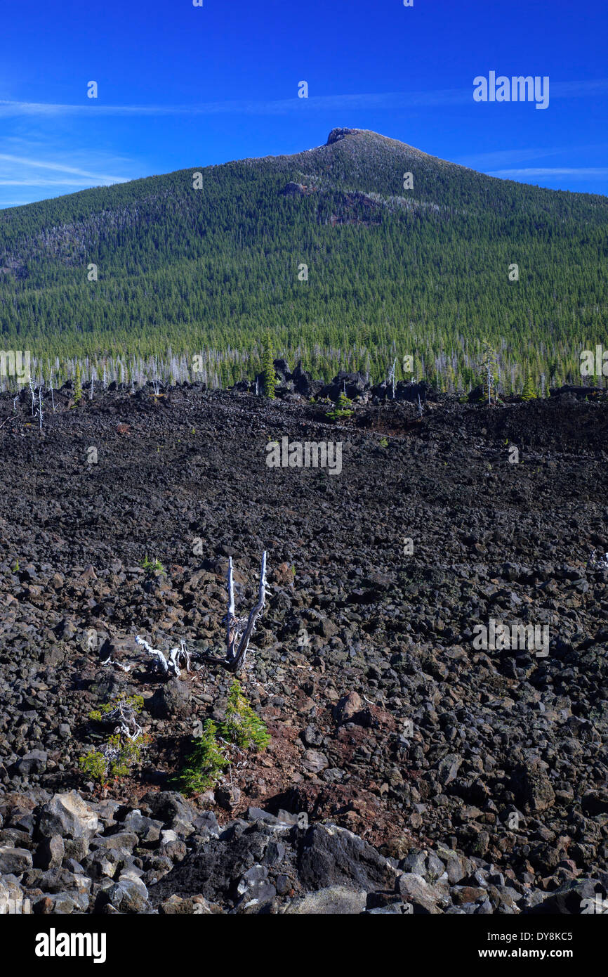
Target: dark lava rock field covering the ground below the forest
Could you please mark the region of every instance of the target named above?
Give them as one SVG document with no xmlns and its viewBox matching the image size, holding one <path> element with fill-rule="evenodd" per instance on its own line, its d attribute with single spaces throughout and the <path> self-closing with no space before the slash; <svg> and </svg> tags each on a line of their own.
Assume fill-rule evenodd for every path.
<svg viewBox="0 0 608 977">
<path fill-rule="evenodd" d="M 332 419 L 296 393 L 60 391 L 40 433 L 0 395 L 0 909 L 570 913 L 605 893 L 607 407 L 436 398 L 364 389 Z M 283 438 L 339 442 L 340 475 L 270 468 Z M 240 613 L 263 549 L 242 681 L 270 743 L 186 799 L 172 778 L 231 681 L 206 659 L 228 557 Z M 191 671 L 155 674 L 136 634 L 183 638 Z M 121 694 L 148 742 L 103 791 L 79 760 Z"/>
</svg>

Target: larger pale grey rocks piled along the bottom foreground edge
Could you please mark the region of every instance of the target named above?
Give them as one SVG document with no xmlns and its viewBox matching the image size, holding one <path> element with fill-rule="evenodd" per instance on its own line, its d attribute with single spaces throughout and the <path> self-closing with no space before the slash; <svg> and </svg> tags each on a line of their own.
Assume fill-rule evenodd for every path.
<svg viewBox="0 0 608 977">
<path fill-rule="evenodd" d="M 23 847 L 0 848 L 0 913 L 9 901 L 33 913 L 577 913 L 608 886 L 604 871 L 547 894 L 442 845 L 385 856 L 288 811 L 250 807 L 221 827 L 171 791 L 141 810 L 72 791 L 18 813 L 4 833 Z"/>
</svg>

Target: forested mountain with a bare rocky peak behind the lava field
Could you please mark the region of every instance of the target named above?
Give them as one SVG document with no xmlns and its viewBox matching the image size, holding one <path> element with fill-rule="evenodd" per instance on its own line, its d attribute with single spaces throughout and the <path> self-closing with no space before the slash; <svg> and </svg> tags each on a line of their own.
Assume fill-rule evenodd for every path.
<svg viewBox="0 0 608 977">
<path fill-rule="evenodd" d="M 205 351 L 225 384 L 253 375 L 269 331 L 276 353 L 326 377 L 380 379 L 397 358 L 398 379 L 411 355 L 415 374 L 450 388 L 478 377 L 487 339 L 507 390 L 528 371 L 574 381 L 606 321 L 607 231 L 607 197 L 334 129 L 295 155 L 0 212 L 1 343 L 31 350 L 44 375 L 104 357 L 125 376 L 146 357 L 183 375 Z"/>
</svg>

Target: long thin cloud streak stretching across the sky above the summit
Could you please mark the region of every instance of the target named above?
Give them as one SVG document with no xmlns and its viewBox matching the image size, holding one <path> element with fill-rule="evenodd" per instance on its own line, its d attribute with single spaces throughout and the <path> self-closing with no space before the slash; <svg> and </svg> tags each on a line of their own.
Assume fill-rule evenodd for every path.
<svg viewBox="0 0 608 977">
<path fill-rule="evenodd" d="M 595 81 L 551 82 L 551 99 L 575 99 L 608 92 L 608 79 Z M 274 101 L 241 100 L 206 102 L 182 106 L 106 106 L 91 99 L 80 105 L 46 102 L 14 102 L 0 100 L 0 116 L 59 116 L 59 115 L 281 115 L 296 111 L 334 111 L 340 109 L 399 109 L 429 106 L 466 105 L 472 100 L 472 76 L 468 88 L 439 89 L 430 92 L 381 92 L 355 95 L 319 95 L 299 99 Z"/>
</svg>

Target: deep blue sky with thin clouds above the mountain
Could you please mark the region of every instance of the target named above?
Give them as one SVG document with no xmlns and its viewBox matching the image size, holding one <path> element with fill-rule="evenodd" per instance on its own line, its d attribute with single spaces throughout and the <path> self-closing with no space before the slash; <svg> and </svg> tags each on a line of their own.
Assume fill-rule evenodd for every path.
<svg viewBox="0 0 608 977">
<path fill-rule="evenodd" d="M 0 207 L 310 149 L 335 126 L 493 176 L 608 192 L 606 0 L 203 4 L 5 5 Z M 474 102 L 473 79 L 492 70 L 548 76 L 548 107 Z"/>
</svg>

